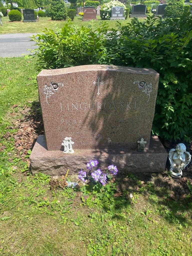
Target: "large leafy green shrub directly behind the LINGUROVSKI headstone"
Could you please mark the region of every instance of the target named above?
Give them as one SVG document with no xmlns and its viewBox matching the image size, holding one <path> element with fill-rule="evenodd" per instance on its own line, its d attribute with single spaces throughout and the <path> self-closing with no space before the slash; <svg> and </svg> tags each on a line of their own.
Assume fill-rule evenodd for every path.
<svg viewBox="0 0 192 256">
<path fill-rule="evenodd" d="M 107 28 L 101 24 L 93 33 L 91 27 L 74 29 L 67 23 L 62 29 L 45 30 L 34 36 L 38 68 L 97 63 L 153 68 L 160 74 L 153 133 L 168 140 L 190 141 L 192 15 L 184 12 L 179 17 L 148 16 L 143 22 L 133 18 L 126 26 L 119 24 L 108 31 L 106 37 Z"/>
</svg>

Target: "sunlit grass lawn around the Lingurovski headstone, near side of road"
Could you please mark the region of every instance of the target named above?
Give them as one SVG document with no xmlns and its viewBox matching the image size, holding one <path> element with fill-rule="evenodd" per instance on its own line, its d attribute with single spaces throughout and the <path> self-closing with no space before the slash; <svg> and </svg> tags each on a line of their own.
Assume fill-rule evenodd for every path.
<svg viewBox="0 0 192 256">
<path fill-rule="evenodd" d="M 23 109 L 36 111 L 35 75 L 35 59 L 0 58 L 0 255 L 191 256 L 191 196 L 171 199 L 165 180 L 124 173 L 92 193 L 50 190 L 49 176 L 28 172 L 13 136 Z"/>
</svg>

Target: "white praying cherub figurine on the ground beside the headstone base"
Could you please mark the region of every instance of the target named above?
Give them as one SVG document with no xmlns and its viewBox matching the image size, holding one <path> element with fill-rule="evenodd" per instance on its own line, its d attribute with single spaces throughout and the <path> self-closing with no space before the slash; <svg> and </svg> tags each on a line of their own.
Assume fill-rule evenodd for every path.
<svg viewBox="0 0 192 256">
<path fill-rule="evenodd" d="M 182 170 L 190 163 L 191 155 L 186 152 L 186 146 L 183 143 L 177 144 L 176 148 L 169 151 L 170 173 L 172 177 L 180 178 Z"/>
</svg>

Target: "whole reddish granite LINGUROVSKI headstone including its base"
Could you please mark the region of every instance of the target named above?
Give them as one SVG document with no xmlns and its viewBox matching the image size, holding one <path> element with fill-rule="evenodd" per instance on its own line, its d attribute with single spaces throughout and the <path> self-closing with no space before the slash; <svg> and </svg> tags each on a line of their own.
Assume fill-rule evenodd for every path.
<svg viewBox="0 0 192 256">
<path fill-rule="evenodd" d="M 167 152 L 151 136 L 158 79 L 153 69 L 120 66 L 42 70 L 37 82 L 45 136 L 37 138 L 31 153 L 32 171 L 77 173 L 90 159 L 101 168 L 163 171 Z M 66 137 L 74 142 L 73 154 L 63 153 Z M 137 151 L 141 138 L 144 152 Z"/>
</svg>

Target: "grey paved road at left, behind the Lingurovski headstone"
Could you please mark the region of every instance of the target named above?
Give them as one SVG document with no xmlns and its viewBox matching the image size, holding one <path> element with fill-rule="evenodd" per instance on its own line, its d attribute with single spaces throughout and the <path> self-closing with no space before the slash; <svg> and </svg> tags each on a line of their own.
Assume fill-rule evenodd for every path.
<svg viewBox="0 0 192 256">
<path fill-rule="evenodd" d="M 17 57 L 29 54 L 27 49 L 34 49 L 29 36 L 34 34 L 0 34 L 0 57 Z"/>
</svg>

